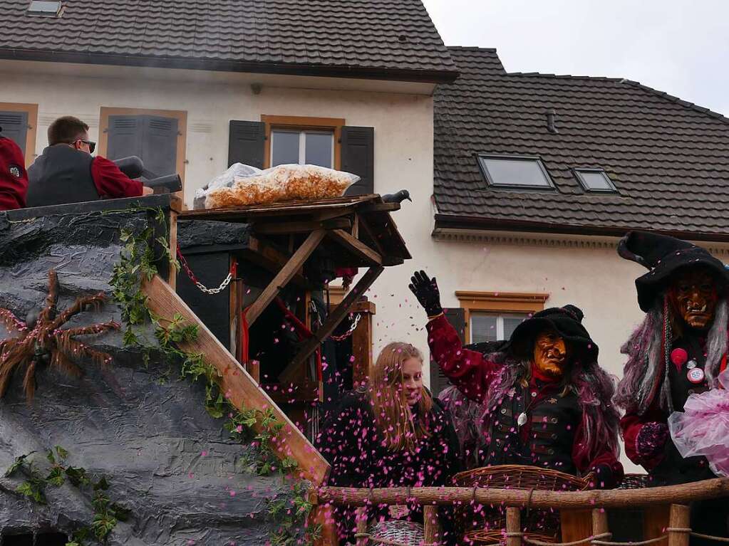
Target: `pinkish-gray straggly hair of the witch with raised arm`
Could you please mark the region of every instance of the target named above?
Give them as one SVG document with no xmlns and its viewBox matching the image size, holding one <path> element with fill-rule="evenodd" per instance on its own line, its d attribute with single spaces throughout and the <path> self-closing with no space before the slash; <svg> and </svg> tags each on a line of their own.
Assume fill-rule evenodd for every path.
<svg viewBox="0 0 729 546">
<path fill-rule="evenodd" d="M 500 405 L 507 392 L 522 379 L 529 378 L 531 363 L 514 360 L 503 352 L 494 352 L 484 355 L 486 360 L 502 363 L 501 376 L 493 381 L 486 392 L 484 408 L 486 411 L 481 420 L 483 432 L 488 438 L 492 412 Z M 598 363 L 573 363 L 572 372 L 563 379 L 566 390 L 577 395 L 577 401 L 582 408 L 582 443 L 577 453 L 594 459 L 602 449 L 607 448 L 615 456 L 620 454 L 617 441 L 617 427 L 620 416 L 612 397 L 615 395 L 615 377 L 611 376 Z"/>
</svg>

